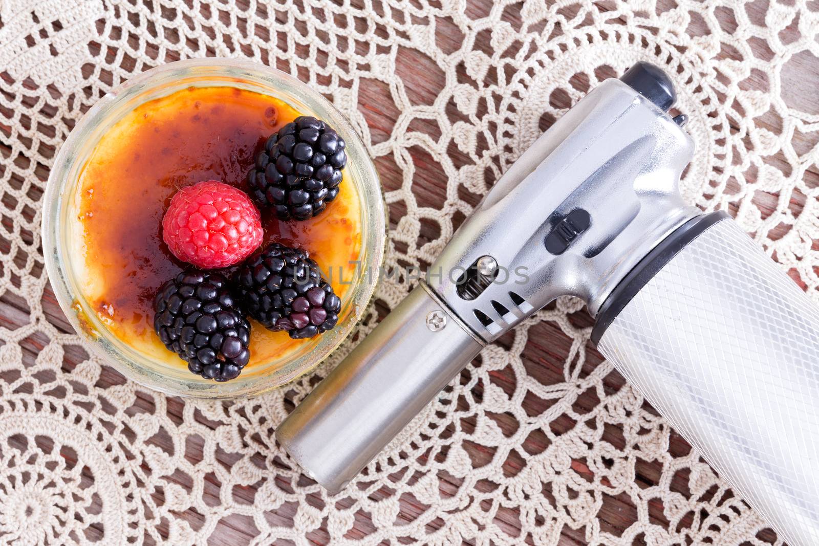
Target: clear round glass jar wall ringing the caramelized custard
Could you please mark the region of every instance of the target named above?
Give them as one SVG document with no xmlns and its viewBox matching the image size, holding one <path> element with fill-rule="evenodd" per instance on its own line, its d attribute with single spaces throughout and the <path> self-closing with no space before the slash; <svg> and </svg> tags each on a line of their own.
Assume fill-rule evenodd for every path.
<svg viewBox="0 0 819 546">
<path fill-rule="evenodd" d="M 224 383 L 188 372 L 186 364 L 158 362 L 120 340 L 97 316 L 77 282 L 77 237 L 70 219 L 81 202 L 81 174 L 106 131 L 139 105 L 184 88 L 229 86 L 275 97 L 304 115 L 326 120 L 346 141 L 346 183 L 360 196 L 361 255 L 358 274 L 342 297 L 342 320 L 337 327 L 295 353 L 269 362 L 251 363 L 242 374 Z M 324 97 L 305 83 L 265 65 L 236 59 L 177 61 L 147 70 L 107 93 L 79 121 L 60 148 L 48 178 L 43 206 L 43 254 L 57 301 L 75 330 L 94 353 L 126 377 L 156 390 L 201 398 L 259 395 L 310 371 L 350 334 L 373 296 L 386 246 L 386 207 L 373 161 L 352 125 Z M 73 261 L 72 261 L 73 260 Z M 252 350 L 252 347 L 251 347 Z"/>
</svg>

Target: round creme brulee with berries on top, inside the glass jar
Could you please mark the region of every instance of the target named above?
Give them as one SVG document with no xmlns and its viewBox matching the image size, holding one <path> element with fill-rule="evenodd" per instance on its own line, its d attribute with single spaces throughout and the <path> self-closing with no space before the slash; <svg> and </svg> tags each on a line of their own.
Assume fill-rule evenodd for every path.
<svg viewBox="0 0 819 546">
<path fill-rule="evenodd" d="M 342 178 L 342 139 L 314 118 L 302 118 L 293 125 L 302 114 L 274 97 L 246 89 L 191 87 L 143 103 L 102 136 L 80 175 L 77 220 L 82 237 L 76 243 L 73 259 L 79 262 L 75 267 L 85 298 L 120 341 L 151 359 L 182 368 L 188 363 L 174 350 L 184 353 L 187 347 L 195 361 L 189 369 L 221 381 L 235 377 L 242 363 L 233 371 L 225 371 L 224 377 L 217 377 L 216 372 L 208 371 L 214 362 L 224 368 L 230 359 L 246 359 L 245 365 L 252 368 L 258 363 L 285 361 L 306 344 L 315 343 L 324 329 L 332 328 L 334 314 L 341 321 L 351 312 L 350 305 L 345 305 L 345 295 L 347 282 L 355 274 L 351 263 L 360 259 L 362 250 L 360 195 L 355 183 L 346 179 L 349 169 L 343 171 L 340 184 L 337 180 Z M 280 129 L 283 131 L 274 138 Z M 272 165 L 274 159 L 277 172 Z M 329 165 L 333 160 L 336 163 Z M 268 176 L 256 179 L 251 174 L 248 178 L 248 173 L 254 172 L 256 176 Z M 279 186 L 274 185 L 274 179 L 281 179 Z M 210 184 L 205 188 L 210 193 L 206 197 L 201 192 L 195 194 L 194 185 L 205 182 Z M 296 191 L 287 184 L 301 189 Z M 248 201 L 242 201 L 237 210 L 257 208 L 256 221 L 261 228 L 260 244 L 258 240 L 252 243 L 258 246 L 247 250 L 253 250 L 247 259 L 213 269 L 220 279 L 233 282 L 233 278 L 241 276 L 238 269 L 246 268 L 245 284 L 250 285 L 243 285 L 245 300 L 232 292 L 230 297 L 235 302 L 219 296 L 227 290 L 224 281 L 207 284 L 211 270 L 177 257 L 189 248 L 194 261 L 197 252 L 205 256 L 203 259 L 211 259 L 214 252 L 219 254 L 229 245 L 256 237 L 252 219 L 245 222 L 239 218 L 240 212 L 230 209 L 233 205 L 228 197 L 219 197 L 220 191 L 229 190 L 224 185 L 247 197 Z M 184 188 L 188 189 L 182 192 Z M 178 193 L 176 202 L 174 196 Z M 245 199 L 242 196 L 237 199 Z M 211 201 L 191 205 L 191 199 Z M 250 202 L 253 205 L 248 205 Z M 201 214 L 194 210 L 200 205 L 197 210 Z M 178 214 L 188 214 L 185 207 L 188 213 L 194 210 L 189 218 L 179 219 L 178 223 L 173 223 L 175 218 L 165 220 L 166 228 L 170 221 L 174 231 L 165 237 L 181 237 L 172 241 L 172 251 L 163 237 L 163 220 L 166 213 L 177 214 L 176 209 L 182 210 Z M 201 219 L 202 214 L 206 219 Z M 305 216 L 309 218 L 296 219 Z M 225 222 L 229 223 L 227 228 Z M 194 227 L 199 223 L 201 230 Z M 278 246 L 270 246 L 272 243 Z M 294 257 L 287 254 L 290 250 L 278 248 L 305 251 L 326 278 L 316 278 L 312 266 L 305 269 L 308 262 L 297 261 L 300 255 Z M 296 260 L 297 264 L 287 260 Z M 173 283 L 183 271 L 194 273 L 168 288 L 167 283 Z M 302 292 L 294 284 L 294 291 L 288 292 L 287 275 L 308 274 L 305 271 L 313 275 L 310 290 Z M 201 274 L 206 274 L 204 281 L 197 278 Z M 277 279 L 281 288 L 275 285 L 276 290 L 269 296 L 264 290 L 253 291 L 262 286 L 253 283 L 266 282 L 273 287 L 270 283 Z M 206 282 L 207 287 L 197 291 L 197 283 L 201 282 Z M 190 287 L 183 286 L 186 283 Z M 210 296 L 202 296 L 209 290 Z M 157 296 L 160 292 L 165 296 Z M 155 299 L 163 297 L 161 311 L 157 311 Z M 333 297 L 341 301 L 340 306 Z M 242 332 L 246 332 L 244 318 L 239 315 L 249 314 L 241 310 L 240 300 L 247 298 L 252 300 L 248 305 L 261 306 L 266 314 L 262 321 L 265 325 L 247 316 L 250 333 L 245 343 L 241 340 Z M 231 317 L 214 302 L 235 305 L 239 310 L 231 311 Z M 193 309 L 196 306 L 205 310 L 200 313 Z M 157 314 L 161 316 L 155 323 Z M 271 327 L 278 327 L 278 331 Z M 229 336 L 238 337 L 229 343 Z M 183 338 L 187 341 L 180 341 Z M 242 353 L 247 347 L 249 359 Z"/>
</svg>

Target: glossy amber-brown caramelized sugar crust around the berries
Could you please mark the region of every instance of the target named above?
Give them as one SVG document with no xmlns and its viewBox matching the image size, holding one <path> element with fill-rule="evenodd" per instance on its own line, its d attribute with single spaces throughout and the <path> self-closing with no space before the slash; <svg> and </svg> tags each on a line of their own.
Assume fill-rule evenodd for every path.
<svg viewBox="0 0 819 546">
<path fill-rule="evenodd" d="M 181 187 L 219 180 L 245 188 L 245 176 L 266 138 L 299 112 L 274 97 L 240 88 L 187 88 L 138 106 L 102 137 L 81 174 L 84 293 L 97 316 L 122 341 L 166 362 L 182 360 L 153 331 L 156 289 L 186 267 L 162 241 L 161 222 Z M 360 258 L 360 196 L 346 179 L 327 210 L 303 222 L 262 211 L 265 243 L 308 250 L 332 271 L 344 300 Z M 342 309 L 343 313 L 347 309 Z M 286 357 L 310 340 L 291 340 L 252 324 L 251 366 Z"/>
</svg>

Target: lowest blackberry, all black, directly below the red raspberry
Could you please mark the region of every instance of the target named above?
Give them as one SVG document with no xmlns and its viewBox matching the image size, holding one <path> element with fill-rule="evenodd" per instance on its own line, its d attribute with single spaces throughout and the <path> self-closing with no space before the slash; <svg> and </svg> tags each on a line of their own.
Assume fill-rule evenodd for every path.
<svg viewBox="0 0 819 546">
<path fill-rule="evenodd" d="M 251 325 L 221 273 L 179 273 L 156 293 L 154 312 L 154 329 L 165 347 L 205 379 L 233 379 L 250 359 Z"/>
</svg>

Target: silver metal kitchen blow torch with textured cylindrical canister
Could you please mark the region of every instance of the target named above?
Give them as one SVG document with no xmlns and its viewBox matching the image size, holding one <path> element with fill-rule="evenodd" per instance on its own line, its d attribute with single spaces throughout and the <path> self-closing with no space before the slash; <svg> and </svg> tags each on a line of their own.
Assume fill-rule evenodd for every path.
<svg viewBox="0 0 819 546">
<path fill-rule="evenodd" d="M 576 296 L 600 352 L 720 476 L 791 546 L 819 544 L 819 309 L 728 214 L 683 200 L 675 100 L 637 63 L 520 156 L 432 264 L 445 274 L 278 427 L 305 473 L 342 490 L 484 345 Z"/>
</svg>

